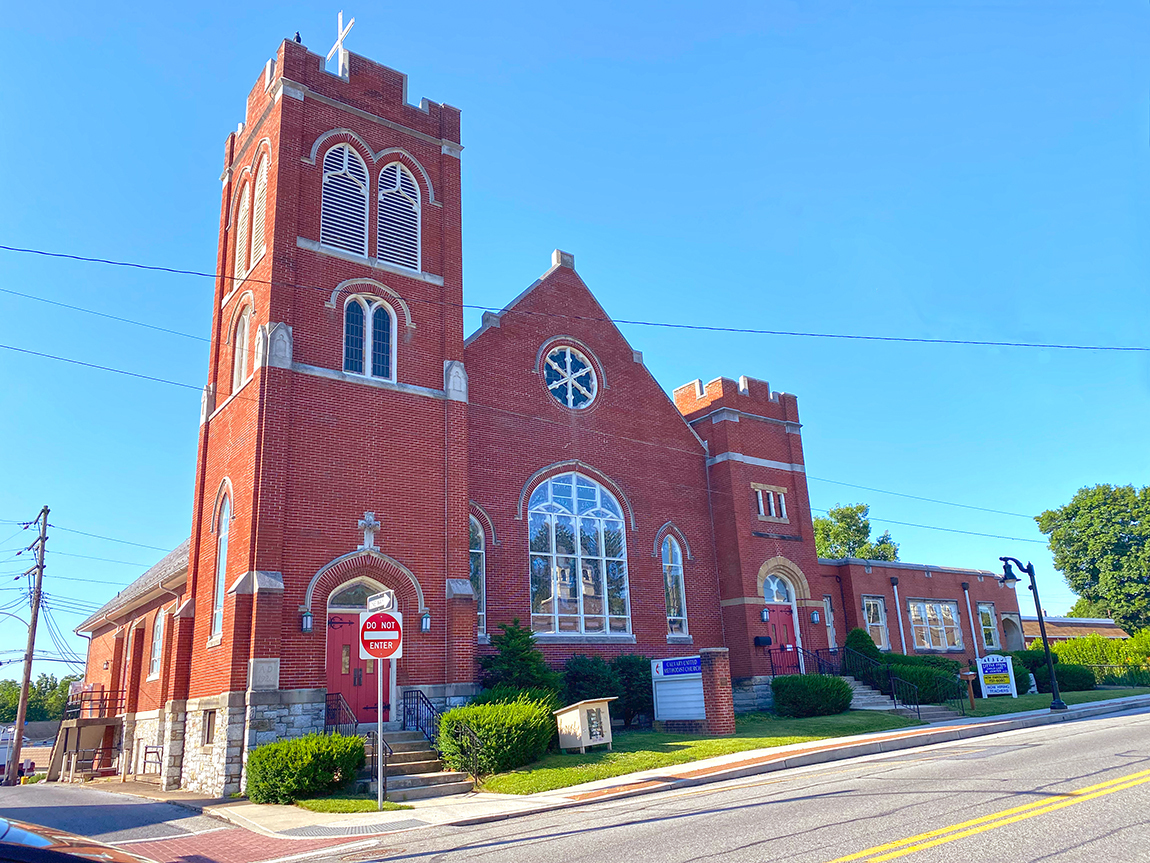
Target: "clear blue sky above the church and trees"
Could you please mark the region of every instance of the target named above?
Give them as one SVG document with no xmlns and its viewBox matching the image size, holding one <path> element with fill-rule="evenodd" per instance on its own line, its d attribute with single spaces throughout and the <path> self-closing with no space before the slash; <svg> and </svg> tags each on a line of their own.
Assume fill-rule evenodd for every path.
<svg viewBox="0 0 1150 863">
<path fill-rule="evenodd" d="M 468 303 L 501 306 L 561 247 L 618 318 L 1150 344 L 1145 2 L 428 8 L 347 6 L 348 47 L 463 112 Z M 224 138 L 279 40 L 327 53 L 337 10 L 8 6 L 0 243 L 212 270 Z M 209 280 L 0 252 L 0 288 L 209 329 Z M 1148 481 L 1150 354 L 623 329 L 668 390 L 797 394 L 814 506 L 869 503 L 908 562 L 1033 558 L 1051 613 L 1073 597 L 1044 544 L 879 519 L 1041 540 L 1033 521 L 823 480 L 1023 514 Z M 0 343 L 197 387 L 207 368 L 206 342 L 5 293 Z M 61 527 L 187 535 L 195 391 L 5 350 L 0 381 L 0 519 L 48 503 Z M 49 549 L 61 601 L 161 556 L 62 530 Z M 0 618 L 0 650 L 23 637 Z"/>
</svg>

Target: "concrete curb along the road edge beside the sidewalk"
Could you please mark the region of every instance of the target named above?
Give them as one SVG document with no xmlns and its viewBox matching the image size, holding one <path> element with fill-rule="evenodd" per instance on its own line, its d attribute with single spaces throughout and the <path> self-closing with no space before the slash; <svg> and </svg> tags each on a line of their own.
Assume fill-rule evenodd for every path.
<svg viewBox="0 0 1150 863">
<path fill-rule="evenodd" d="M 715 769 L 713 772 L 708 772 L 705 776 L 682 776 L 675 778 L 652 778 L 646 780 L 638 780 L 631 782 L 630 786 L 623 785 L 619 786 L 618 792 L 612 792 L 610 788 L 604 788 L 601 794 L 596 792 L 586 792 L 586 794 L 596 794 L 596 796 L 588 796 L 583 800 L 572 800 L 564 803 L 552 803 L 543 804 L 536 809 L 526 809 L 514 812 L 504 812 L 499 815 L 486 815 L 476 816 L 473 818 L 461 818 L 454 822 L 445 822 L 440 826 L 452 826 L 452 827 L 466 827 L 476 824 L 490 824 L 491 822 L 507 820 L 511 818 L 521 818 L 526 815 L 538 815 L 539 812 L 551 812 L 561 809 L 573 809 L 575 807 L 588 805 L 590 803 L 601 803 L 606 801 L 615 800 L 627 800 L 628 797 L 638 797 L 645 794 L 656 794 L 658 792 L 676 791 L 680 788 L 692 788 L 700 785 L 711 785 L 713 782 L 723 782 L 731 779 L 744 779 L 746 777 L 760 776 L 762 773 L 774 773 L 781 770 L 791 770 L 795 767 L 807 767 L 815 764 L 827 764 L 829 762 L 846 761 L 849 758 L 858 758 L 866 755 L 880 755 L 883 753 L 895 753 L 903 749 L 917 749 L 923 746 L 933 746 L 935 743 L 950 743 L 957 740 L 969 740 L 973 738 L 988 736 L 990 734 L 1000 734 L 1007 731 L 1019 731 L 1022 728 L 1036 728 L 1044 725 L 1057 725 L 1058 723 L 1076 721 L 1079 719 L 1089 719 L 1095 716 L 1104 716 L 1106 713 L 1120 713 L 1126 710 L 1147 708 L 1150 707 L 1150 696 L 1136 695 L 1128 700 L 1116 700 L 1109 702 L 1098 702 L 1096 704 L 1088 704 L 1074 711 L 1067 711 L 1065 713 L 1038 713 L 1034 716 L 1027 716 L 1019 719 L 994 719 L 988 718 L 984 721 L 971 723 L 967 725 L 945 725 L 941 726 L 934 731 L 919 732 L 917 734 L 907 734 L 898 738 L 885 738 L 879 740 L 865 740 L 858 743 L 845 743 L 839 746 L 828 746 L 822 748 L 815 748 L 814 750 L 797 751 L 793 754 L 780 755 L 774 758 L 769 756 L 764 756 L 761 761 L 751 764 L 736 764 L 729 769 Z M 762 750 L 760 750 L 762 751 Z"/>
</svg>

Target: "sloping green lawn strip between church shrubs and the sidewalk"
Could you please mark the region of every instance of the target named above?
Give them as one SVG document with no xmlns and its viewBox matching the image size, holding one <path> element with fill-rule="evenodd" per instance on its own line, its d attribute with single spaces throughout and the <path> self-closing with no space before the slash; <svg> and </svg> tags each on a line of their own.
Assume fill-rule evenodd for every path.
<svg viewBox="0 0 1150 863">
<path fill-rule="evenodd" d="M 552 753 L 521 770 L 488 778 L 482 791 L 535 794 L 747 749 L 867 734 L 918 724 L 914 719 L 891 713 L 851 710 L 837 716 L 811 719 L 782 719 L 769 713 L 747 713 L 737 717 L 736 732 L 730 738 L 659 734 L 653 731 L 619 732 L 614 735 L 614 751 L 596 749 L 585 755 Z"/>
</svg>

